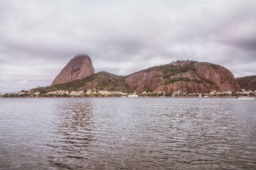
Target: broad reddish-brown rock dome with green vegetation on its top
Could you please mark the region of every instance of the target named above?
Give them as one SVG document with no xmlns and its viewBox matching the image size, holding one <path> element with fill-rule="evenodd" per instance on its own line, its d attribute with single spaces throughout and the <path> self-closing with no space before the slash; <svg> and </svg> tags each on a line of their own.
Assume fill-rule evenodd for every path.
<svg viewBox="0 0 256 170">
<path fill-rule="evenodd" d="M 126 82 L 135 92 L 143 92 L 145 85 L 153 92 L 205 93 L 240 91 L 233 74 L 220 65 L 208 62 L 179 61 L 150 67 L 128 75 Z"/>
</svg>

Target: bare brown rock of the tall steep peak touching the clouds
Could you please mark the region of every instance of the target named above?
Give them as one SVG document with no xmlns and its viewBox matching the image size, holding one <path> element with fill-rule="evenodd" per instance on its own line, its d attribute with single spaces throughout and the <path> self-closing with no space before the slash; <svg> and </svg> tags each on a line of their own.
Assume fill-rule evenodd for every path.
<svg viewBox="0 0 256 170">
<path fill-rule="evenodd" d="M 76 55 L 55 77 L 51 85 L 82 79 L 94 72 L 92 60 L 88 55 Z"/>
</svg>

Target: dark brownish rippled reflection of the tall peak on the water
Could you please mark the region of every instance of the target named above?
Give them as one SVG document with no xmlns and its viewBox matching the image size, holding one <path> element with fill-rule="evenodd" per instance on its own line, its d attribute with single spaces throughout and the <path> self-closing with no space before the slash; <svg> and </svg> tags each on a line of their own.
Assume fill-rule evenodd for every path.
<svg viewBox="0 0 256 170">
<path fill-rule="evenodd" d="M 95 128 L 90 100 L 62 102 L 56 105 L 51 154 L 48 155 L 50 166 L 67 169 L 82 168 L 96 138 L 91 133 Z"/>
</svg>

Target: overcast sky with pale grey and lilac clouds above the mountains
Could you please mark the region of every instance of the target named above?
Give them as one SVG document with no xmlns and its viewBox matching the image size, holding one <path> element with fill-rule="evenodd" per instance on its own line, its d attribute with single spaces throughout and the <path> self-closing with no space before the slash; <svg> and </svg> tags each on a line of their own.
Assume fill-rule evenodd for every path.
<svg viewBox="0 0 256 170">
<path fill-rule="evenodd" d="M 77 54 L 128 75 L 176 60 L 256 75 L 256 0 L 0 0 L 0 93 L 51 85 Z"/>
</svg>

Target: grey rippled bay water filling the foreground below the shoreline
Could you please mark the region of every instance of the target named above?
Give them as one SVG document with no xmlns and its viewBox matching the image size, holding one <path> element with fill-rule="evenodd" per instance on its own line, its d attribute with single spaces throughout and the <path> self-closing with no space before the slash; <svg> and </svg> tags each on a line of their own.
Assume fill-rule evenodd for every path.
<svg viewBox="0 0 256 170">
<path fill-rule="evenodd" d="M 0 170 L 256 169 L 256 100 L 0 98 Z"/>
</svg>

